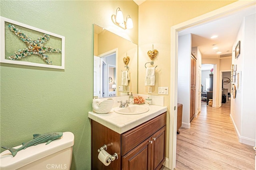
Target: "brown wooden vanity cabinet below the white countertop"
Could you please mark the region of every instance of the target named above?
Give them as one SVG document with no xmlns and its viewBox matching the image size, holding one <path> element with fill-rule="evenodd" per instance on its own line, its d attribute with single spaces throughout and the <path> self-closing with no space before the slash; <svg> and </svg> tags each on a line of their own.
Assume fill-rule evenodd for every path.
<svg viewBox="0 0 256 170">
<path fill-rule="evenodd" d="M 118 134 L 93 120 L 91 125 L 92 169 L 160 170 L 162 167 L 166 150 L 166 112 L 123 134 Z M 95 125 L 108 130 L 95 128 Z M 103 135 L 99 130 L 108 134 Z M 109 133 L 110 131 L 112 132 Z M 114 141 L 111 141 L 113 139 Z M 109 166 L 104 166 L 98 160 L 96 152 L 104 144 L 109 146 L 107 152 L 118 154 L 118 160 L 114 160 Z"/>
</svg>

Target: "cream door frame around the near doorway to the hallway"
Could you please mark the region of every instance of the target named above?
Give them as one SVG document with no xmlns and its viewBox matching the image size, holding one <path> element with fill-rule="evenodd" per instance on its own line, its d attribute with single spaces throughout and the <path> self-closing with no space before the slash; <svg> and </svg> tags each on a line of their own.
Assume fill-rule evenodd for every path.
<svg viewBox="0 0 256 170">
<path fill-rule="evenodd" d="M 256 4 L 255 0 L 244 1 L 238 0 L 218 8 L 212 12 L 203 14 L 191 20 L 179 23 L 170 28 L 171 37 L 170 37 L 170 136 L 169 136 L 169 155 L 168 160 L 166 161 L 167 168 L 173 170 L 176 166 L 176 131 L 177 131 L 177 98 L 178 98 L 178 32 L 189 27 L 196 25 L 202 25 L 204 23 L 212 22 L 220 18 L 224 18 L 230 15 L 233 15 L 235 12 L 248 8 Z"/>
</svg>

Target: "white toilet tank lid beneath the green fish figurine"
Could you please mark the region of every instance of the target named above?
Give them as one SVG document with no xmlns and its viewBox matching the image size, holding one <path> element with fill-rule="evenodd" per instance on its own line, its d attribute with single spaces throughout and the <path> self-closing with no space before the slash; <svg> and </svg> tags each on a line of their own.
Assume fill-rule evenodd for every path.
<svg viewBox="0 0 256 170">
<path fill-rule="evenodd" d="M 72 132 L 63 132 L 60 139 L 56 139 L 48 145 L 45 144 L 40 143 L 36 146 L 20 150 L 14 157 L 9 150 L 5 150 L 0 154 L 0 169 L 18 169 L 45 156 L 72 147 L 74 145 L 74 134 Z M 17 149 L 21 146 L 19 145 L 14 148 Z"/>
</svg>

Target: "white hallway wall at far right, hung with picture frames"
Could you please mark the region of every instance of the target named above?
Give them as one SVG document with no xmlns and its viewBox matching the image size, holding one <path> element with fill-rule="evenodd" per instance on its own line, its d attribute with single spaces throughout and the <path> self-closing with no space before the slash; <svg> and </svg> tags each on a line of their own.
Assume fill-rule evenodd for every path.
<svg viewBox="0 0 256 170">
<path fill-rule="evenodd" d="M 236 98 L 231 97 L 230 117 L 241 143 L 255 146 L 256 124 L 256 16 L 246 16 L 238 32 L 234 48 L 241 41 L 240 56 L 232 63 L 237 64 L 237 71 L 241 71 L 241 90 L 236 90 Z"/>
</svg>

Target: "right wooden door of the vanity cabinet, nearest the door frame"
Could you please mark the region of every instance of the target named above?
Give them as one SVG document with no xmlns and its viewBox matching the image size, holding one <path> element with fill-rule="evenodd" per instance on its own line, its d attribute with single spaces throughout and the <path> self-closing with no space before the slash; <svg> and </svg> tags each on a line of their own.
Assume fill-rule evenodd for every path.
<svg viewBox="0 0 256 170">
<path fill-rule="evenodd" d="M 166 141 L 166 126 L 162 127 L 154 135 L 152 135 L 152 170 L 160 169 L 165 160 L 165 141 Z"/>
</svg>

